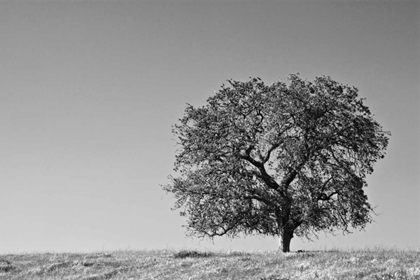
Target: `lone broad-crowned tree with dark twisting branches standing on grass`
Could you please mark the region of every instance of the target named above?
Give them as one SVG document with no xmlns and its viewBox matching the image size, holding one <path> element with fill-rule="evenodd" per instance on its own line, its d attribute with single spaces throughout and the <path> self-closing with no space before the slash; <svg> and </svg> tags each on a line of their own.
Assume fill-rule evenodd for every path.
<svg viewBox="0 0 420 280">
<path fill-rule="evenodd" d="M 355 87 L 298 74 L 266 86 L 229 80 L 173 127 L 178 177 L 164 189 L 198 237 L 279 236 L 363 229 L 373 209 L 363 187 L 389 132 Z"/>
</svg>

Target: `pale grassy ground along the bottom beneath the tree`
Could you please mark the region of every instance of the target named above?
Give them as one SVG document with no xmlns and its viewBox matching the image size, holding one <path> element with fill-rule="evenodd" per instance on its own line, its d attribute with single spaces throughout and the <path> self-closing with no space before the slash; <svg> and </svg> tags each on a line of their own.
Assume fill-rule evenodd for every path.
<svg viewBox="0 0 420 280">
<path fill-rule="evenodd" d="M 192 250 L 0 255 L 0 279 L 420 279 L 420 252 Z"/>
</svg>

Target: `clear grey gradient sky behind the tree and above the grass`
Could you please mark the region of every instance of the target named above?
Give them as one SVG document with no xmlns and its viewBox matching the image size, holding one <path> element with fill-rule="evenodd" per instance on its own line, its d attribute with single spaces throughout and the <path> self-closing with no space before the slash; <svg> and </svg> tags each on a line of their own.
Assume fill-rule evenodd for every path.
<svg viewBox="0 0 420 280">
<path fill-rule="evenodd" d="M 185 236 L 171 127 L 228 79 L 355 86 L 391 131 L 375 222 L 291 250 L 420 249 L 420 2 L 0 1 L 0 253 L 278 249 Z"/>
</svg>

